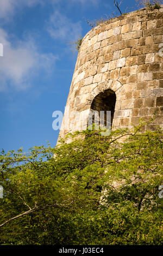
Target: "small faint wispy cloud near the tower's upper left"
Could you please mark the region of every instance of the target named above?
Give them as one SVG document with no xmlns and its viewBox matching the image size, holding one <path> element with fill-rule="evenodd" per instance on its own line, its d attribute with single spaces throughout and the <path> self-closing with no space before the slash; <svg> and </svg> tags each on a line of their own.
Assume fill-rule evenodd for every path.
<svg viewBox="0 0 163 256">
<path fill-rule="evenodd" d="M 70 42 L 76 40 L 82 34 L 82 26 L 80 21 L 72 22 L 59 11 L 54 11 L 49 19 L 47 31 L 54 39 L 64 39 Z"/>
</svg>

